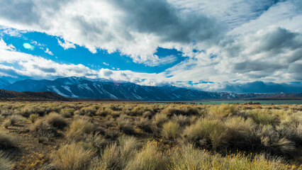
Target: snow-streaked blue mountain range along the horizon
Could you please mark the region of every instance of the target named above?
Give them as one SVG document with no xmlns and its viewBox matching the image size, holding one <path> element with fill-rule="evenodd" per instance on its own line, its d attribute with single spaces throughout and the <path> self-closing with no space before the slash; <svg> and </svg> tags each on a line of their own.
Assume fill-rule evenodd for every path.
<svg viewBox="0 0 302 170">
<path fill-rule="evenodd" d="M 86 77 L 55 80 L 25 79 L 10 84 L 0 79 L 0 88 L 9 91 L 52 91 L 67 98 L 110 98 L 131 101 L 200 101 L 204 99 L 297 98 L 301 93 L 236 94 L 185 89 L 176 86 L 140 86 L 130 82 Z"/>
</svg>

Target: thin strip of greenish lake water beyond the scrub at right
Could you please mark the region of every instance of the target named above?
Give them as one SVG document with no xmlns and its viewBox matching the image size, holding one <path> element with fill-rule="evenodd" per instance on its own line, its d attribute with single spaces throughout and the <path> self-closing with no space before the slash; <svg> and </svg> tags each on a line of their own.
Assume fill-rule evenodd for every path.
<svg viewBox="0 0 302 170">
<path fill-rule="evenodd" d="M 194 102 L 196 104 L 221 104 L 221 103 L 248 103 L 250 101 L 202 101 L 202 102 Z M 190 103 L 190 102 L 189 102 Z M 272 104 L 274 105 L 282 105 L 282 104 L 302 104 L 302 100 L 278 100 L 278 101 L 252 101 L 252 103 L 260 103 L 260 104 Z"/>
</svg>

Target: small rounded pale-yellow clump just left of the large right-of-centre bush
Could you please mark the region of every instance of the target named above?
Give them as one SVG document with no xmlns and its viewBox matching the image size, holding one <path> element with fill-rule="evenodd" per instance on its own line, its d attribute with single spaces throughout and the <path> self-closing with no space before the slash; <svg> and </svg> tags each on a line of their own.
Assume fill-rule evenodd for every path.
<svg viewBox="0 0 302 170">
<path fill-rule="evenodd" d="M 177 122 L 170 120 L 162 125 L 162 136 L 167 140 L 175 140 L 181 134 L 181 128 Z"/>
</svg>

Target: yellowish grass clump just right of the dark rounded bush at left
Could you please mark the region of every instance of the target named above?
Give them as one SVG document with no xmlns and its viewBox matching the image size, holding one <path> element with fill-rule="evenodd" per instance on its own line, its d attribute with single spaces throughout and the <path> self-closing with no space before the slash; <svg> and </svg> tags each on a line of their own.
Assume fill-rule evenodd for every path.
<svg viewBox="0 0 302 170">
<path fill-rule="evenodd" d="M 89 120 L 82 118 L 73 120 L 66 133 L 66 137 L 69 141 L 80 141 L 85 138 L 84 135 L 88 135 L 93 132 L 94 124 Z"/>
</svg>

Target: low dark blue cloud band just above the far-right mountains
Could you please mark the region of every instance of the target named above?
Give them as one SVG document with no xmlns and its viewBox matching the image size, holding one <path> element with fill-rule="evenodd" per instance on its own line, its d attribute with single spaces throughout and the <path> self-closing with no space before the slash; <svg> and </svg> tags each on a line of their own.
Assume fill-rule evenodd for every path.
<svg viewBox="0 0 302 170">
<path fill-rule="evenodd" d="M 302 83 L 275 84 L 254 81 L 246 84 L 227 84 L 221 91 L 235 91 L 237 93 L 301 93 Z"/>
</svg>

